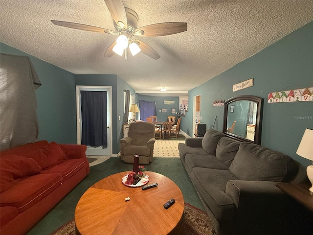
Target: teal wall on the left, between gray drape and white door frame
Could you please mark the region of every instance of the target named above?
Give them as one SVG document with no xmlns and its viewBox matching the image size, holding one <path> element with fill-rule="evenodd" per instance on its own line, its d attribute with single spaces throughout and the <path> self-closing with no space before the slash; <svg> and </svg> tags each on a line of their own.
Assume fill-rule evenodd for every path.
<svg viewBox="0 0 313 235">
<path fill-rule="evenodd" d="M 42 83 L 36 90 L 38 140 L 77 143 L 74 74 L 3 43 L 0 52 L 28 56 Z"/>
</svg>

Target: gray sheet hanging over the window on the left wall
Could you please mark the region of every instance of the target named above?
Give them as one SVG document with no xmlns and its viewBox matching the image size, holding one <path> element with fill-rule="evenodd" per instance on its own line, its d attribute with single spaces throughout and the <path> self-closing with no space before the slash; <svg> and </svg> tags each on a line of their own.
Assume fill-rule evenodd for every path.
<svg viewBox="0 0 313 235">
<path fill-rule="evenodd" d="M 35 90 L 41 82 L 27 56 L 0 53 L 0 149 L 36 141 Z"/>
</svg>

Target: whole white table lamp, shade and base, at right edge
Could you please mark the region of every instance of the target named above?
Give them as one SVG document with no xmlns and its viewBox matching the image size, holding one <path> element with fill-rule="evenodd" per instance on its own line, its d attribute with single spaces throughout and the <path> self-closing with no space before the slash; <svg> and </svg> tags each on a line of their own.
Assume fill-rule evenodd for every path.
<svg viewBox="0 0 313 235">
<path fill-rule="evenodd" d="M 296 152 L 299 156 L 313 161 L 313 129 L 306 129 Z M 307 167 L 308 178 L 313 185 L 313 165 Z M 309 189 L 313 195 L 313 186 Z"/>
</svg>

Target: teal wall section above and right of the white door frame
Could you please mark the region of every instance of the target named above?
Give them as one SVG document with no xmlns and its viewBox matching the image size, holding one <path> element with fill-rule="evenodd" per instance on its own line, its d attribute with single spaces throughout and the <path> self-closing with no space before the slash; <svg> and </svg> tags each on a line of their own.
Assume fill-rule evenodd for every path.
<svg viewBox="0 0 313 235">
<path fill-rule="evenodd" d="M 117 154 L 120 150 L 119 140 L 123 136 L 124 90 L 134 94 L 134 89 L 115 74 L 83 74 L 75 77 L 76 85 L 112 86 L 112 153 Z M 118 116 L 121 120 L 118 120 Z"/>
</svg>

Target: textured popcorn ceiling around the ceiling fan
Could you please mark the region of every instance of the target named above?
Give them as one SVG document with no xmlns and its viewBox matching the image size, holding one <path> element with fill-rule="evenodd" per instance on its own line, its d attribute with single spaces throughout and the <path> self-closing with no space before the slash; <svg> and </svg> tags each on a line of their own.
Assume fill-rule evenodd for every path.
<svg viewBox="0 0 313 235">
<path fill-rule="evenodd" d="M 105 58 L 116 36 L 50 22 L 113 30 L 104 0 L 0 0 L 0 41 L 75 74 L 118 74 L 140 94 L 166 87 L 166 95 L 182 95 L 313 21 L 313 0 L 124 0 L 124 5 L 138 14 L 138 27 L 186 22 L 188 30 L 141 37 L 158 60 L 141 52 L 127 61 Z"/>
</svg>

